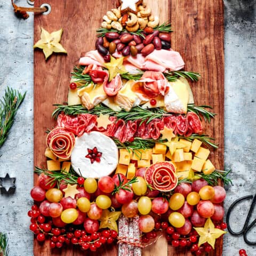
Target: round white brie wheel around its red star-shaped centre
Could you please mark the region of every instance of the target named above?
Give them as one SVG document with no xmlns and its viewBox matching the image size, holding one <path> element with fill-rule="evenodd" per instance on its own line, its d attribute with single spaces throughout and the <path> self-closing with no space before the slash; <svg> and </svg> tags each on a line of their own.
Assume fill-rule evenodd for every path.
<svg viewBox="0 0 256 256">
<path fill-rule="evenodd" d="M 97 147 L 102 153 L 100 162 L 91 163 L 88 148 Z M 118 163 L 118 149 L 115 142 L 100 132 L 84 133 L 81 137 L 76 137 L 75 147 L 71 154 L 71 165 L 74 171 L 84 178 L 101 178 L 110 175 Z"/>
</svg>

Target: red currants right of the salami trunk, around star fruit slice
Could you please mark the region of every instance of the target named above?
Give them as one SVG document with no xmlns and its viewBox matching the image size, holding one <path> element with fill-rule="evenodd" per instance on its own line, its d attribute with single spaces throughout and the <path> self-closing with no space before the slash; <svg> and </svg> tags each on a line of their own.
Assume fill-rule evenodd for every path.
<svg viewBox="0 0 256 256">
<path fill-rule="evenodd" d="M 222 222 L 220 225 L 215 225 L 215 228 L 226 229 L 227 224 Z M 141 241 L 142 243 L 149 243 L 150 239 L 155 239 L 157 237 L 158 230 L 165 230 L 165 236 L 167 242 L 171 243 L 173 247 L 187 247 L 190 249 L 192 253 L 196 256 L 203 255 L 204 252 L 211 252 L 212 246 L 208 243 L 205 243 L 198 246 L 198 234 L 196 230 L 192 230 L 188 235 L 182 236 L 180 235 L 174 227 L 169 226 L 168 222 L 155 222 L 155 229 L 149 233 L 145 233 L 142 235 Z M 239 252 L 240 253 L 240 252 Z M 247 256 L 246 254 L 240 254 L 240 256 Z"/>
</svg>

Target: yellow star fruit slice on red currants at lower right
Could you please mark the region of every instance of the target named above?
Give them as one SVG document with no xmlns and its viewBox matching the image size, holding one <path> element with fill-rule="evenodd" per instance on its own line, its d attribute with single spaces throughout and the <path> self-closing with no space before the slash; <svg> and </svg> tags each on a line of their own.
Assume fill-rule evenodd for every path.
<svg viewBox="0 0 256 256">
<path fill-rule="evenodd" d="M 205 225 L 203 228 L 194 228 L 199 237 L 198 246 L 204 243 L 209 243 L 213 249 L 215 245 L 215 240 L 219 238 L 221 235 L 226 234 L 226 231 L 223 231 L 219 228 L 215 228 L 214 224 L 212 223 L 211 218 L 208 218 L 205 222 Z"/>
</svg>

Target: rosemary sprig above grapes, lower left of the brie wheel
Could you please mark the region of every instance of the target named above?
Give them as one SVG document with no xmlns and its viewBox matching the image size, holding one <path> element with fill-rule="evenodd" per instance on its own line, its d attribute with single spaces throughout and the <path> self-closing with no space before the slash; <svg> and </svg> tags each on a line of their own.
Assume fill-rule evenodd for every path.
<svg viewBox="0 0 256 256">
<path fill-rule="evenodd" d="M 77 174 L 73 171 L 71 168 L 69 172 L 66 172 L 65 170 L 60 171 L 49 171 L 47 169 L 41 169 L 37 166 L 35 166 L 35 173 L 41 174 L 44 173 L 45 175 L 49 176 L 51 179 L 49 179 L 49 184 L 53 184 L 54 182 L 57 182 L 58 188 L 60 187 L 61 182 L 65 182 L 66 184 L 77 184 Z"/>
</svg>

